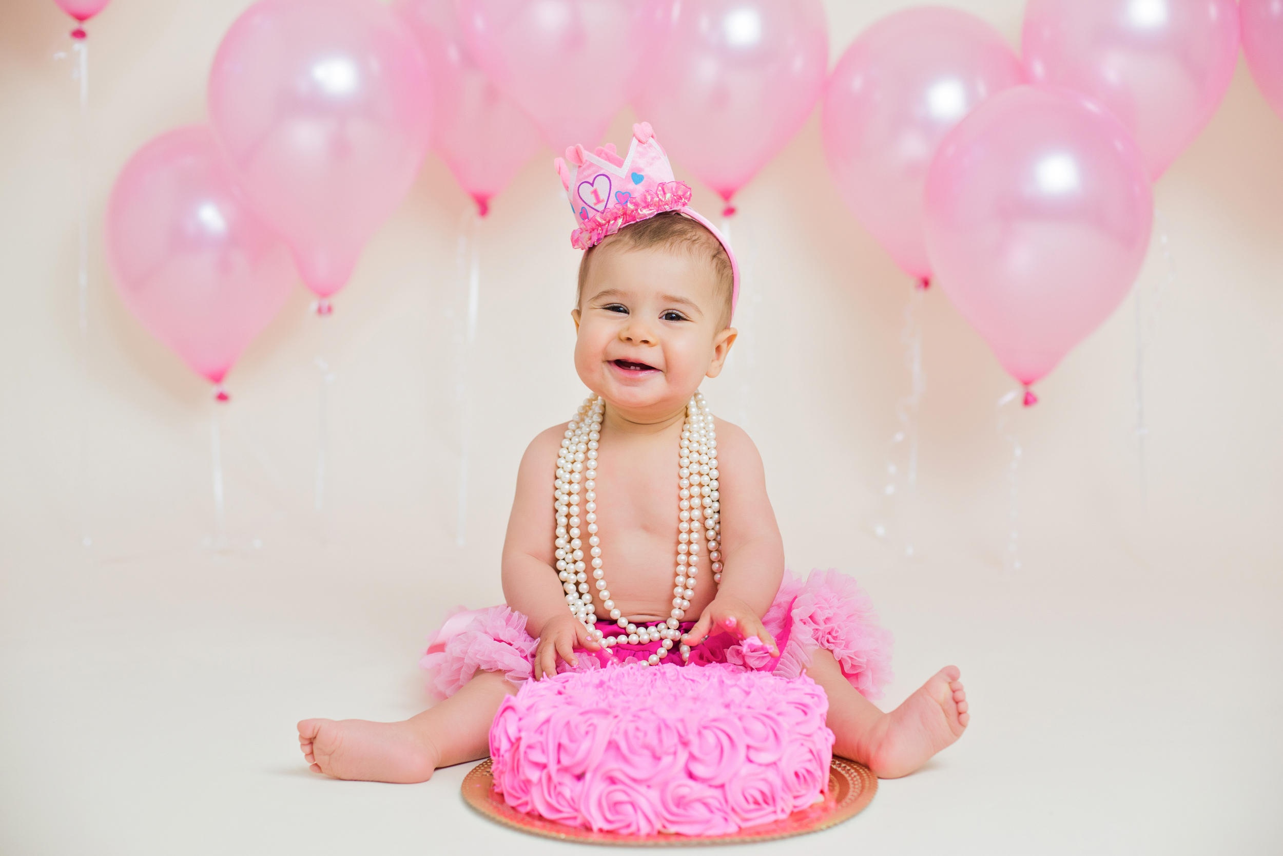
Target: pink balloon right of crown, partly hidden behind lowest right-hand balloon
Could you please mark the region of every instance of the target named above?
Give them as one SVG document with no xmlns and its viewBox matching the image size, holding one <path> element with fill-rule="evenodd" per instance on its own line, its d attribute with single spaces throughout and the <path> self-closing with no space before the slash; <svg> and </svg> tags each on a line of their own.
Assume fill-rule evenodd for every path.
<svg viewBox="0 0 1283 856">
<path fill-rule="evenodd" d="M 883 18 L 838 60 L 824 90 L 824 151 L 856 219 L 906 273 L 931 276 L 922 186 L 940 140 L 984 99 L 1023 82 L 996 30 L 937 6 Z"/>
</svg>

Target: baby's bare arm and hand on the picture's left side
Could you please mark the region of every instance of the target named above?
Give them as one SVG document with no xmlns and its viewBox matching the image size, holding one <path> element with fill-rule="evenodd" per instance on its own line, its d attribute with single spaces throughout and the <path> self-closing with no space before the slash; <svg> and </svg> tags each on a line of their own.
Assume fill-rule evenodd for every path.
<svg viewBox="0 0 1283 856">
<path fill-rule="evenodd" d="M 566 426 L 536 436 L 517 470 L 517 495 L 503 542 L 503 595 L 526 616 L 526 633 L 539 639 L 534 676 L 557 672 L 557 656 L 576 665 L 575 648 L 597 651 L 588 630 L 566 607 L 553 557 L 553 477 Z"/>
</svg>

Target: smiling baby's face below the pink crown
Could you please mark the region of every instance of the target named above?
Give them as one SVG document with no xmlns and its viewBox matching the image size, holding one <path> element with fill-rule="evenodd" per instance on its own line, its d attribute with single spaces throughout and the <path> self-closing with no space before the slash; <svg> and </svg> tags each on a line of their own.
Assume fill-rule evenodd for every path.
<svg viewBox="0 0 1283 856">
<path fill-rule="evenodd" d="M 662 417 L 721 372 L 735 341 L 721 326 L 722 305 L 707 262 L 603 246 L 571 313 L 575 370 L 607 402 Z"/>
</svg>

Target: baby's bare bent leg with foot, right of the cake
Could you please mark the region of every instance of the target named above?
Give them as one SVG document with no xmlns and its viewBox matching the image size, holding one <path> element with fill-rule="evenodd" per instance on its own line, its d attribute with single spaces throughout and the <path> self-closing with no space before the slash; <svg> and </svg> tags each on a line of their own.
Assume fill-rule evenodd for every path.
<svg viewBox="0 0 1283 856">
<path fill-rule="evenodd" d="M 822 648 L 807 674 L 829 696 L 833 753 L 860 761 L 880 779 L 898 779 L 962 737 L 966 693 L 956 666 L 946 666 L 889 714 L 856 692 L 833 655 Z"/>
</svg>

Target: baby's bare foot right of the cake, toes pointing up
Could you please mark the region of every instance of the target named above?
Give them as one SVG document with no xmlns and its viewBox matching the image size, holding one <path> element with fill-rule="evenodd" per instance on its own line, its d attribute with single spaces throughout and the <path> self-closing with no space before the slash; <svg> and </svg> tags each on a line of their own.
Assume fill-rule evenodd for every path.
<svg viewBox="0 0 1283 856">
<path fill-rule="evenodd" d="M 971 719 L 957 666 L 946 666 L 881 720 L 869 753 L 880 779 L 898 779 L 962 737 Z"/>
</svg>

